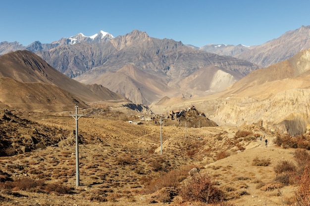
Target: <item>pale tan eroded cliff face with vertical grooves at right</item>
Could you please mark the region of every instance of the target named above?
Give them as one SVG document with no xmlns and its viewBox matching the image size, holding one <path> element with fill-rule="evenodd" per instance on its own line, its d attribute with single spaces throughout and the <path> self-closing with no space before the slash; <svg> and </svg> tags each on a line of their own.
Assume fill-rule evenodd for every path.
<svg viewBox="0 0 310 206">
<path fill-rule="evenodd" d="M 303 134 L 310 124 L 310 90 L 290 89 L 271 99 L 226 99 L 210 119 L 217 124 L 259 124 L 271 131 Z"/>
</svg>

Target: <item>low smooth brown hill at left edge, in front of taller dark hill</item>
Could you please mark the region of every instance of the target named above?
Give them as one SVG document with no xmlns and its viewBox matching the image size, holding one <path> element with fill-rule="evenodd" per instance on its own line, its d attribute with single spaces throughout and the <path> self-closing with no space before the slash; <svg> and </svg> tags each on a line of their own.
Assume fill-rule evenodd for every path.
<svg viewBox="0 0 310 206">
<path fill-rule="evenodd" d="M 0 78 L 0 89 L 1 103 L 10 108 L 59 112 L 71 110 L 75 105 L 89 107 L 79 98 L 53 84 Z"/>
</svg>

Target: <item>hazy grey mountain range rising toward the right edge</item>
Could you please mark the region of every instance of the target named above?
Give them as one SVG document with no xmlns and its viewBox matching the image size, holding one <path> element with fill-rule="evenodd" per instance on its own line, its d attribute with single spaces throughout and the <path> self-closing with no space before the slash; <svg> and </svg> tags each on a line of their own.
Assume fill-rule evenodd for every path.
<svg viewBox="0 0 310 206">
<path fill-rule="evenodd" d="M 310 26 L 302 26 L 294 31 L 288 31 L 279 38 L 267 41 L 261 45 L 207 44 L 200 48 L 195 48 L 219 55 L 244 59 L 257 64 L 259 67 L 268 67 L 291 58 L 301 50 L 310 48 Z"/>
</svg>

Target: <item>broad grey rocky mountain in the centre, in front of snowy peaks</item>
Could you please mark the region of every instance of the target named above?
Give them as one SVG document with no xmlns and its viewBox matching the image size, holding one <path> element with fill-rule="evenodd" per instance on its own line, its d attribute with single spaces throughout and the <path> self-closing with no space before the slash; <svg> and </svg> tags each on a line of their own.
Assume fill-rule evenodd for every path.
<svg viewBox="0 0 310 206">
<path fill-rule="evenodd" d="M 206 95 L 207 90 L 219 91 L 258 69 L 255 64 L 244 60 L 192 49 L 182 42 L 155 39 L 138 30 L 104 43 L 65 45 L 38 52 L 38 55 L 58 71 L 79 82 L 102 84 L 134 103 L 146 105 L 164 95 L 197 96 Z M 191 75 L 211 65 L 223 71 L 222 86 L 212 87 L 217 79 L 210 74 L 215 75 L 215 72 L 201 72 L 205 76 L 199 78 L 208 80 L 204 85 L 200 88 L 193 85 L 182 90 L 185 78 L 192 80 L 194 77 L 191 78 Z M 134 68 L 137 73 L 135 76 L 117 72 L 129 67 Z M 113 73 L 111 78 L 110 72 L 117 73 Z M 149 81 L 143 74 L 148 75 Z M 117 75 L 126 77 L 123 79 Z M 229 83 L 224 78 L 226 76 Z M 119 79 L 123 81 L 115 81 Z M 165 86 L 159 86 L 162 83 Z M 151 93 L 148 92 L 151 90 Z"/>
</svg>

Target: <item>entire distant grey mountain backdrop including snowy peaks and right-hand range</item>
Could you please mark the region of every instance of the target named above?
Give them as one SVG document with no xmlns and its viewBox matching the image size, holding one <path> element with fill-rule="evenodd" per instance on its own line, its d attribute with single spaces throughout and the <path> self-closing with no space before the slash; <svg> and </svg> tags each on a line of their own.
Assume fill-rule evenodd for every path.
<svg viewBox="0 0 310 206">
<path fill-rule="evenodd" d="M 36 52 L 70 78 L 83 83 L 101 84 L 135 103 L 151 104 L 163 96 L 194 98 L 219 92 L 257 70 L 258 66 L 250 61 L 268 65 L 289 58 L 300 48 L 307 48 L 309 31 L 310 26 L 302 26 L 259 46 L 208 44 L 200 50 L 181 41 L 155 39 L 138 30 L 116 38 L 100 31 L 91 37 L 80 33 L 51 44 L 36 41 L 27 49 Z M 9 47 L 8 43 L 5 46 Z M 15 42 L 11 48 L 18 46 Z M 133 73 L 116 72 L 122 68 L 128 69 L 130 65 Z M 145 72 L 150 74 L 145 75 Z M 111 74 L 113 79 L 106 74 Z M 146 77 L 149 82 L 141 81 L 139 75 L 133 74 Z M 157 85 L 161 84 L 147 76 L 164 82 L 165 86 L 158 89 Z M 118 79 L 123 81 L 115 81 Z"/>
</svg>

